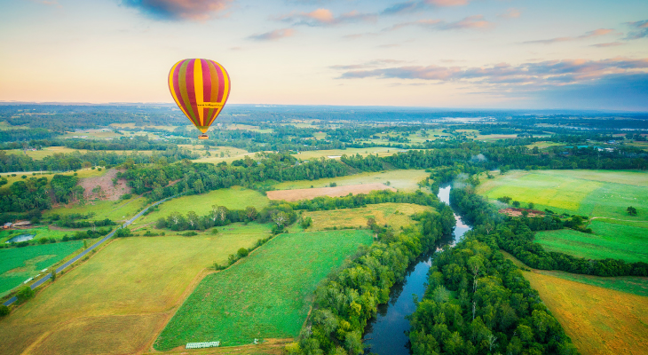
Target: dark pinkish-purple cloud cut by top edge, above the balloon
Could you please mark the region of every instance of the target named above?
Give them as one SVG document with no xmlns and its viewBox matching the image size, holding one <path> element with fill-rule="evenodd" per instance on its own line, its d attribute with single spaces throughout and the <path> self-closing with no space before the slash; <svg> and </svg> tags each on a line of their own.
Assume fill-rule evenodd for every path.
<svg viewBox="0 0 648 355">
<path fill-rule="evenodd" d="M 209 20 L 225 11 L 233 0 L 122 0 L 146 16 L 157 20 Z"/>
</svg>

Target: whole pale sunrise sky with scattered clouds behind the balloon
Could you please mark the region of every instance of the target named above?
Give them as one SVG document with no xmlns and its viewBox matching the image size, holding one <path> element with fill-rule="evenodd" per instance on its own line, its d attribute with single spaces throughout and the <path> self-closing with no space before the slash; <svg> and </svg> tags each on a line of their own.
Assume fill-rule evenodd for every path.
<svg viewBox="0 0 648 355">
<path fill-rule="evenodd" d="M 0 101 L 648 111 L 645 0 L 0 0 Z"/>
</svg>

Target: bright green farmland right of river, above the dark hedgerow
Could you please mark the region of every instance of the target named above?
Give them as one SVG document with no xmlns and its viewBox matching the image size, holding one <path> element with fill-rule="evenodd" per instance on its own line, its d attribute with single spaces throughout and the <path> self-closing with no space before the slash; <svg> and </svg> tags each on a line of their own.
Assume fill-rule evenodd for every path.
<svg viewBox="0 0 648 355">
<path fill-rule="evenodd" d="M 568 215 L 589 217 L 592 234 L 572 230 L 536 233 L 551 251 L 586 258 L 648 261 L 648 173 L 609 170 L 511 171 L 478 186 L 490 199 L 509 196 Z M 637 209 L 629 216 L 628 206 Z"/>
</svg>

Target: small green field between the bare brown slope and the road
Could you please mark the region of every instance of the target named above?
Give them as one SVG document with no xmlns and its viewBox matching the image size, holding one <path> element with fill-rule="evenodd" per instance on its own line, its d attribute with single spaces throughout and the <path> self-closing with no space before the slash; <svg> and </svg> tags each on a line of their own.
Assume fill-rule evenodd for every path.
<svg viewBox="0 0 648 355">
<path fill-rule="evenodd" d="M 129 200 L 120 201 L 89 201 L 84 204 L 71 204 L 59 206 L 43 213 L 43 216 L 50 217 L 53 214 L 60 216 L 70 215 L 73 213 L 88 214 L 94 213 L 91 219 L 99 220 L 110 218 L 114 221 L 125 221 L 135 216 L 138 211 L 146 206 L 146 199 L 133 196 Z"/>
</svg>

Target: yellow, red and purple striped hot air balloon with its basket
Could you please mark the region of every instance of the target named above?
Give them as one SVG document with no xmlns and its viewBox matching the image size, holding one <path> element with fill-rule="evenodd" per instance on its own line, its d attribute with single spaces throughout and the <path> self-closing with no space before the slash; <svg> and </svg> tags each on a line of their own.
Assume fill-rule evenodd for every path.
<svg viewBox="0 0 648 355">
<path fill-rule="evenodd" d="M 214 60 L 180 60 L 169 72 L 171 96 L 198 130 L 199 139 L 207 139 L 205 133 L 223 110 L 230 95 L 230 76 Z"/>
</svg>

